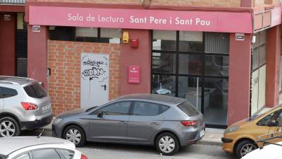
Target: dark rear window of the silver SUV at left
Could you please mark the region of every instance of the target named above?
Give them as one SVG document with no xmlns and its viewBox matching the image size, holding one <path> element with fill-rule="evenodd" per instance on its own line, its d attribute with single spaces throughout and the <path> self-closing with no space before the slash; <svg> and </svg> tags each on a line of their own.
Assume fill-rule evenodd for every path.
<svg viewBox="0 0 282 159">
<path fill-rule="evenodd" d="M 47 93 L 39 83 L 34 83 L 29 86 L 25 86 L 25 93 L 32 98 L 44 98 L 47 97 Z"/>
</svg>

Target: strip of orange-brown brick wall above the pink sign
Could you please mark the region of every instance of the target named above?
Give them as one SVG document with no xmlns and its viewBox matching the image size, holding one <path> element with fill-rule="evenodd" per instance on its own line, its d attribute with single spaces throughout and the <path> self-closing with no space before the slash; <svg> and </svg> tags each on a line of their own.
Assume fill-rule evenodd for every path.
<svg viewBox="0 0 282 159">
<path fill-rule="evenodd" d="M 35 1 L 35 0 L 30 0 Z M 140 0 L 37 0 L 98 4 L 140 4 Z M 147 1 L 147 0 L 145 0 Z M 152 6 L 221 6 L 240 7 L 240 0 L 152 0 Z"/>
</svg>

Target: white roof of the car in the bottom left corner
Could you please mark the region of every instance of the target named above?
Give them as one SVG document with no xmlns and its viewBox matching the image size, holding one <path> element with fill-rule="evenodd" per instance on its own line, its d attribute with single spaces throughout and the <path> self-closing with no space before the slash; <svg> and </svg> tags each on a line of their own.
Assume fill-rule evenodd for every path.
<svg viewBox="0 0 282 159">
<path fill-rule="evenodd" d="M 30 146 L 39 146 L 43 144 L 66 143 L 71 146 L 70 141 L 47 136 L 18 136 L 0 138 L 0 154 L 8 155 L 14 151 Z"/>
</svg>

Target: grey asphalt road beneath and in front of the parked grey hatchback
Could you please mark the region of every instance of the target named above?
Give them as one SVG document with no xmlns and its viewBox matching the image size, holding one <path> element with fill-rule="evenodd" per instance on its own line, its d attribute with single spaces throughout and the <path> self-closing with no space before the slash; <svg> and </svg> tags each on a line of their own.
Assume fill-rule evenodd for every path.
<svg viewBox="0 0 282 159">
<path fill-rule="evenodd" d="M 42 130 L 23 131 L 22 136 L 37 136 Z M 51 136 L 51 130 L 45 129 L 42 136 Z M 181 148 L 176 155 L 164 156 L 152 146 L 128 146 L 112 143 L 87 143 L 78 148 L 89 159 L 235 159 L 233 155 L 224 153 L 220 146 L 197 145 Z"/>
</svg>

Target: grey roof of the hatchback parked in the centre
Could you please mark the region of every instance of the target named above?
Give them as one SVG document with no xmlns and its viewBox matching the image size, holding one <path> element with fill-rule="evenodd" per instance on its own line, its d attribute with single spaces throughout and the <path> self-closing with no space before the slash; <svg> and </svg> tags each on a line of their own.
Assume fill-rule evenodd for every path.
<svg viewBox="0 0 282 159">
<path fill-rule="evenodd" d="M 146 102 L 157 102 L 163 105 L 178 105 L 186 100 L 183 98 L 171 97 L 168 95 L 156 95 L 148 93 L 136 93 L 130 95 L 123 95 L 116 100 L 142 100 Z"/>
</svg>

